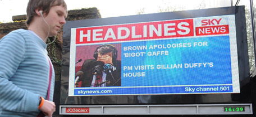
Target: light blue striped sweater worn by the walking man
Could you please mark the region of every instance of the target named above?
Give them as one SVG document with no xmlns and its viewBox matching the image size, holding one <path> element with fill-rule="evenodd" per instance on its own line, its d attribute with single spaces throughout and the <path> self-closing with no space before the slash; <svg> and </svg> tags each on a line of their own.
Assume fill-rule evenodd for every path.
<svg viewBox="0 0 256 117">
<path fill-rule="evenodd" d="M 22 29 L 0 40 L 0 116 L 36 116 L 39 113 L 39 96 L 47 98 L 49 84 L 46 47 L 38 36 Z"/>
</svg>

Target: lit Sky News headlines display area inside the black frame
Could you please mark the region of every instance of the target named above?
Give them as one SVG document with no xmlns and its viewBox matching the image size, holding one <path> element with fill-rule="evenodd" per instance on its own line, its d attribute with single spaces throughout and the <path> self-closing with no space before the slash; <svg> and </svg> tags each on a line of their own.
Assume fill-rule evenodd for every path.
<svg viewBox="0 0 256 117">
<path fill-rule="evenodd" d="M 101 72 L 115 80 L 89 86 L 97 75 L 88 69 L 97 64 L 76 70 L 79 64 L 75 63 L 80 59 L 97 62 L 93 58 L 95 45 L 118 46 L 121 58 L 112 61 L 121 61 L 121 67 L 112 65 L 118 71 L 112 68 L 113 76 L 101 66 Z M 70 96 L 240 92 L 234 14 L 71 28 L 70 54 L 76 56 L 70 59 L 70 77 L 74 77 L 70 79 Z M 75 87 L 71 83 L 75 76 L 81 84 L 85 79 L 92 81 Z M 116 86 L 118 82 L 121 85 Z"/>
</svg>

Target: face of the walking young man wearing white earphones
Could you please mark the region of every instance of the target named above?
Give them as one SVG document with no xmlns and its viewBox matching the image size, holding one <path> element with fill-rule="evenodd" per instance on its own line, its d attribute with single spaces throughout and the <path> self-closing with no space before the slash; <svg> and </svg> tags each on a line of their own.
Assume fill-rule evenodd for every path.
<svg viewBox="0 0 256 117">
<path fill-rule="evenodd" d="M 53 6 L 45 20 L 49 23 L 50 32 L 49 37 L 57 35 L 60 28 L 66 23 L 67 16 L 66 9 L 62 6 Z"/>
</svg>

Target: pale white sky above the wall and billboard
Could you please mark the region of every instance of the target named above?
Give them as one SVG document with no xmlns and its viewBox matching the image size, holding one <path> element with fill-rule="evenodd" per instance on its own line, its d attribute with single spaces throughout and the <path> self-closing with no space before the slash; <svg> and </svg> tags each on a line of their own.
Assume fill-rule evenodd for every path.
<svg viewBox="0 0 256 117">
<path fill-rule="evenodd" d="M 236 0 L 232 0 L 235 4 Z M 247 1 L 247 2 L 245 2 Z M 12 22 L 12 16 L 26 14 L 29 0 L 0 0 L 0 22 Z M 67 9 L 97 7 L 102 18 L 157 13 L 159 9 L 177 8 L 183 10 L 204 8 L 229 7 L 231 0 L 65 0 Z M 241 0 L 239 5 L 248 4 L 249 0 Z"/>
</svg>

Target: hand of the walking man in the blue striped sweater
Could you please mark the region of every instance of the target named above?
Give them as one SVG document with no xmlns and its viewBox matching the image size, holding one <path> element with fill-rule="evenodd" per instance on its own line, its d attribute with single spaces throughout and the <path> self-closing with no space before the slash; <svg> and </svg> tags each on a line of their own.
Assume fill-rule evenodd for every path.
<svg viewBox="0 0 256 117">
<path fill-rule="evenodd" d="M 39 109 L 43 111 L 45 116 L 52 116 L 53 112 L 55 111 L 55 103 L 52 101 L 44 100 L 43 106 Z"/>
</svg>

